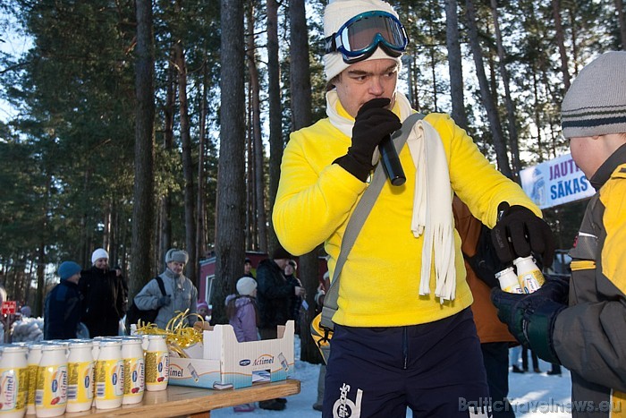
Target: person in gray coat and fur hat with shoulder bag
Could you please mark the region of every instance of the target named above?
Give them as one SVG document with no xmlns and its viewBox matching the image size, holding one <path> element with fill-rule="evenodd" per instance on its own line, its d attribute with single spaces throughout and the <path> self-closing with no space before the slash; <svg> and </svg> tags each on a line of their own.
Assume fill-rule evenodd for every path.
<svg viewBox="0 0 626 418">
<path fill-rule="evenodd" d="M 165 329 L 167 322 L 171 320 L 179 311 L 188 311 L 188 318 L 185 323 L 193 326 L 196 321 L 195 315 L 198 308 L 198 289 L 193 286 L 191 280 L 182 274 L 185 265 L 189 260 L 189 254 L 184 250 L 175 248 L 169 250 L 165 254 L 165 264 L 167 268 L 159 275 L 165 285 L 165 295 L 161 293 L 158 287 L 157 279 L 153 278 L 146 286 L 141 289 L 140 293 L 135 296 L 135 304 L 142 311 L 149 309 L 158 309 L 157 323 L 158 328 Z"/>
</svg>

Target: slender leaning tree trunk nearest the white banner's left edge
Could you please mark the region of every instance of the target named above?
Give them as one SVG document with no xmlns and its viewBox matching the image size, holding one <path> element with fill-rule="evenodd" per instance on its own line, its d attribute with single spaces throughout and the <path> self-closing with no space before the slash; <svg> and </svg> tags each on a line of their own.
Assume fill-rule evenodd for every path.
<svg viewBox="0 0 626 418">
<path fill-rule="evenodd" d="M 506 106 L 506 117 L 509 122 L 509 150 L 512 158 L 512 179 L 520 183 L 520 147 L 518 146 L 517 121 L 515 120 L 515 104 L 511 98 L 511 87 L 509 72 L 506 70 L 506 53 L 500 32 L 500 22 L 498 18 L 498 4 L 496 0 L 491 0 L 491 11 L 494 16 L 495 43 L 498 48 L 498 62 L 500 63 L 500 76 L 504 86 L 504 105 Z"/>
</svg>

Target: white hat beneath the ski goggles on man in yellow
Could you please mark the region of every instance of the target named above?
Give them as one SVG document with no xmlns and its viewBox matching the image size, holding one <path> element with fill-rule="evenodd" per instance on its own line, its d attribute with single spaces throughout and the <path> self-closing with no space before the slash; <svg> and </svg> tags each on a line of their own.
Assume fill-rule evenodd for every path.
<svg viewBox="0 0 626 418">
<path fill-rule="evenodd" d="M 395 17 L 398 17 L 398 13 L 395 13 L 393 7 L 381 0 L 331 0 L 324 11 L 324 38 L 333 35 L 334 32 L 342 27 L 343 23 L 351 20 L 357 14 L 374 10 L 392 13 Z M 400 56 L 386 55 L 385 51 L 380 47 L 377 47 L 374 54 L 363 61 L 372 59 L 393 59 L 398 63 L 398 66 L 402 65 Z M 343 62 L 343 57 L 339 52 L 324 55 L 326 81 L 333 80 L 335 75 L 343 72 L 350 65 Z"/>
</svg>

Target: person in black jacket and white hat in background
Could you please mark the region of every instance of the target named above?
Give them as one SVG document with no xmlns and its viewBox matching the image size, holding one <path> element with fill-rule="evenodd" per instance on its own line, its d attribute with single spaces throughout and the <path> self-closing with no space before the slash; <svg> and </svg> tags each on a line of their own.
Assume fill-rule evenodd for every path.
<svg viewBox="0 0 626 418">
<path fill-rule="evenodd" d="M 119 321 L 124 316 L 123 277 L 119 271 L 108 268 L 108 258 L 108 253 L 98 248 L 91 254 L 91 269 L 81 272 L 82 322 L 92 338 L 118 335 Z"/>
</svg>

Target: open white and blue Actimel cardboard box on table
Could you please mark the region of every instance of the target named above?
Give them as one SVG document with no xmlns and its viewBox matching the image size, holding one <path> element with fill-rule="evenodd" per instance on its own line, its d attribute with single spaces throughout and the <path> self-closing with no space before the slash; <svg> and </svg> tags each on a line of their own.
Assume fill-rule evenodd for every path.
<svg viewBox="0 0 626 418">
<path fill-rule="evenodd" d="M 285 380 L 293 371 L 293 331 L 290 320 L 276 339 L 240 343 L 232 326 L 216 325 L 204 331 L 204 358 L 170 358 L 169 384 L 222 389 Z"/>
</svg>

